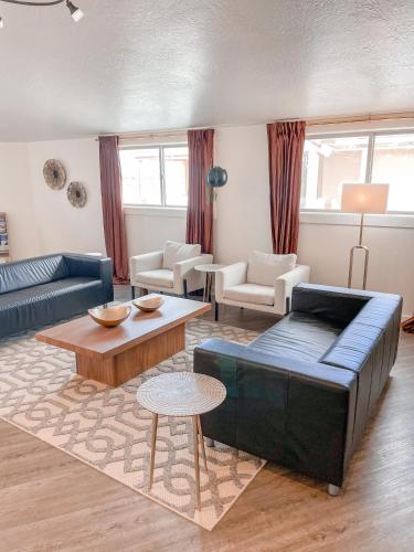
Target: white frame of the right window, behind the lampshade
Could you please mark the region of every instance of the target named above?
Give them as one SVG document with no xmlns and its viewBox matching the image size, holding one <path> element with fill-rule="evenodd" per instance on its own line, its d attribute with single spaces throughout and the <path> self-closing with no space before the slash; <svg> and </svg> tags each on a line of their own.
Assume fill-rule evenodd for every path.
<svg viewBox="0 0 414 552">
<path fill-rule="evenodd" d="M 365 168 L 365 179 L 364 182 L 361 182 L 362 184 L 369 184 L 371 182 L 372 178 L 372 167 L 373 167 L 373 161 L 374 161 L 374 148 L 375 148 L 375 137 L 376 136 L 392 136 L 392 135 L 413 135 L 414 138 L 414 128 L 401 128 L 401 129 L 393 129 L 393 130 L 369 130 L 369 131 L 363 131 L 363 130 L 358 130 L 358 131 L 352 131 L 352 130 L 347 130 L 347 131 L 336 131 L 336 132 L 309 132 L 306 134 L 305 140 L 322 140 L 323 138 L 346 138 L 346 137 L 359 137 L 359 136 L 367 136 L 368 138 L 368 146 L 367 146 L 367 168 Z M 301 187 L 300 187 L 300 194 L 301 194 Z M 307 208 L 300 208 L 301 213 L 342 213 L 340 209 L 307 209 Z M 389 211 L 386 210 L 385 215 L 412 215 L 414 216 L 414 210 L 413 211 Z"/>
</svg>

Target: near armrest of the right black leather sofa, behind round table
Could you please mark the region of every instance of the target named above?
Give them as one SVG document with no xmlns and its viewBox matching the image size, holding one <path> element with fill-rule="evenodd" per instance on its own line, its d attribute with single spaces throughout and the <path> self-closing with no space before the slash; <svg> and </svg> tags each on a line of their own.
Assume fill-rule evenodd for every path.
<svg viewBox="0 0 414 552">
<path fill-rule="evenodd" d="M 194 350 L 194 372 L 222 381 L 224 403 L 202 416 L 215 440 L 341 486 L 350 458 L 357 376 L 211 340 Z"/>
</svg>

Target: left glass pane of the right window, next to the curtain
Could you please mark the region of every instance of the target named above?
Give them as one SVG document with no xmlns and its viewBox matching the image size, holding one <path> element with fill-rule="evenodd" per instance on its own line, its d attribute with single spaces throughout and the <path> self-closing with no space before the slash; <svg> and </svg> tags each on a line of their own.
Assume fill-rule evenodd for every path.
<svg viewBox="0 0 414 552">
<path fill-rule="evenodd" d="M 305 141 L 302 209 L 340 209 L 343 182 L 364 182 L 368 136 Z"/>
</svg>

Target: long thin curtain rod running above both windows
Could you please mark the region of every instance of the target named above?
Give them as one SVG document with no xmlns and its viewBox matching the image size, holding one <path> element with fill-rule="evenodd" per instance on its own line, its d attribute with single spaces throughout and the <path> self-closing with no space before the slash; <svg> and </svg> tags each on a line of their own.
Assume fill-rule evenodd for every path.
<svg viewBox="0 0 414 552">
<path fill-rule="evenodd" d="M 316 127 L 316 126 L 325 126 L 325 125 L 341 125 L 341 124 L 351 124 L 351 123 L 372 123 L 372 121 L 381 121 L 381 120 L 406 120 L 414 119 L 414 112 L 402 112 L 394 114 L 368 114 L 368 115 L 354 115 L 350 117 L 331 117 L 331 118 L 315 118 L 315 119 L 306 119 L 307 127 Z M 291 119 L 276 119 L 276 123 L 294 123 L 296 120 L 304 120 L 298 118 Z M 139 132 L 112 132 L 112 134 L 103 134 L 99 136 L 118 136 L 120 139 L 123 138 L 168 138 L 169 136 L 176 136 L 180 132 L 187 132 L 188 130 L 204 130 L 206 128 L 232 128 L 232 127 L 251 127 L 257 125 L 265 125 L 266 123 L 248 123 L 248 124 L 234 124 L 234 125 L 209 125 L 204 127 L 190 127 L 190 128 L 173 128 L 168 130 L 152 130 L 152 131 L 139 131 Z M 98 141 L 98 138 L 96 138 Z"/>
</svg>

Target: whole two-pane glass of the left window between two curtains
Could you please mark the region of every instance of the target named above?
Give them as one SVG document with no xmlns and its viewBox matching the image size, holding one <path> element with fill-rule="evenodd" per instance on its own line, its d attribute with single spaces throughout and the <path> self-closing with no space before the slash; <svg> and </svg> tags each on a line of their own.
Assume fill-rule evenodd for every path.
<svg viewBox="0 0 414 552">
<path fill-rule="evenodd" d="M 185 144 L 123 148 L 119 158 L 124 204 L 187 208 L 189 148 Z"/>
</svg>

